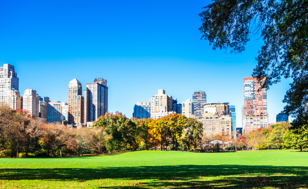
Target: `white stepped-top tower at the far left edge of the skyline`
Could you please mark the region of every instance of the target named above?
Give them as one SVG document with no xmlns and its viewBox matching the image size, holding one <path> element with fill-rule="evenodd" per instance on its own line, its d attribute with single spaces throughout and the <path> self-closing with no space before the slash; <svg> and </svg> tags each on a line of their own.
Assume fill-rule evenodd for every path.
<svg viewBox="0 0 308 189">
<path fill-rule="evenodd" d="M 10 90 L 19 90 L 19 78 L 14 66 L 3 64 L 3 67 L 0 67 L 0 102 L 6 102 Z"/>
</svg>

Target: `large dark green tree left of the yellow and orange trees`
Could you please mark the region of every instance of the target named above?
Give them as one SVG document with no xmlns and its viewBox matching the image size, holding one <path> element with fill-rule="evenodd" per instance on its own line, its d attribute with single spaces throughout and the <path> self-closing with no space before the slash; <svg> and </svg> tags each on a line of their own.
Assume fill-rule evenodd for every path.
<svg viewBox="0 0 308 189">
<path fill-rule="evenodd" d="M 94 121 L 92 127 L 106 128 L 106 134 L 110 135 L 106 141 L 108 151 L 118 152 L 124 147 L 124 140 L 127 138 L 130 120 L 121 112 L 106 112 L 105 116 L 100 116 Z"/>
</svg>

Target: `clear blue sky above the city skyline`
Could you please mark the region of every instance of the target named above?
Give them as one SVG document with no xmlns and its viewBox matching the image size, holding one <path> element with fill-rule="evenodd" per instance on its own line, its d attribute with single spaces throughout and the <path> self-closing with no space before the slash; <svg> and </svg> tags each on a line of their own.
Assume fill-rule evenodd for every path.
<svg viewBox="0 0 308 189">
<path fill-rule="evenodd" d="M 108 109 L 129 118 L 137 101 L 163 88 L 179 102 L 205 91 L 229 102 L 241 127 L 243 78 L 251 76 L 262 41 L 242 54 L 200 40 L 198 13 L 210 1 L 2 1 L 0 63 L 15 66 L 19 90 L 67 100 L 68 82 L 106 79 Z M 281 112 L 289 79 L 268 91 L 270 122 Z"/>
</svg>

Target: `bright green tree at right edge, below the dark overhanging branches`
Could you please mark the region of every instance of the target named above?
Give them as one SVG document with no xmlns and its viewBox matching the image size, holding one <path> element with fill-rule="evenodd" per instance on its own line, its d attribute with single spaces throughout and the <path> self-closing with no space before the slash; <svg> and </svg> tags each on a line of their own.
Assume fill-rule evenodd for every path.
<svg viewBox="0 0 308 189">
<path fill-rule="evenodd" d="M 286 148 L 299 148 L 302 152 L 302 148 L 308 147 L 308 131 L 306 126 L 303 126 L 296 131 L 289 128 L 286 131 L 283 140 Z"/>
</svg>

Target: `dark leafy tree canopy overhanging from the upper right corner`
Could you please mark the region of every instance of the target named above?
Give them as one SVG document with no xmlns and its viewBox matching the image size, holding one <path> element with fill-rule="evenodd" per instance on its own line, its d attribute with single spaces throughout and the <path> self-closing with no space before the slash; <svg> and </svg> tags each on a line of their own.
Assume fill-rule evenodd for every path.
<svg viewBox="0 0 308 189">
<path fill-rule="evenodd" d="M 203 9 L 201 39 L 213 49 L 241 53 L 251 38 L 263 39 L 252 76 L 258 81 L 265 78 L 266 89 L 281 77 L 291 77 L 283 111 L 295 117 L 295 128 L 307 125 L 308 1 L 214 0 Z"/>
</svg>

